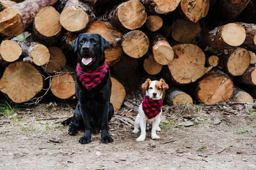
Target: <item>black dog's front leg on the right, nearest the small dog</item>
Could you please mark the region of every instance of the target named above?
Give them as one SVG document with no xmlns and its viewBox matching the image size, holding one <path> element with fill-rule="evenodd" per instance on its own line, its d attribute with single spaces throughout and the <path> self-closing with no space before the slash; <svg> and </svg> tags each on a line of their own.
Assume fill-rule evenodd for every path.
<svg viewBox="0 0 256 170">
<path fill-rule="evenodd" d="M 109 117 L 109 103 L 106 103 L 103 109 L 102 122 L 101 122 L 101 142 L 111 143 L 113 139 L 108 133 L 108 117 Z"/>
</svg>

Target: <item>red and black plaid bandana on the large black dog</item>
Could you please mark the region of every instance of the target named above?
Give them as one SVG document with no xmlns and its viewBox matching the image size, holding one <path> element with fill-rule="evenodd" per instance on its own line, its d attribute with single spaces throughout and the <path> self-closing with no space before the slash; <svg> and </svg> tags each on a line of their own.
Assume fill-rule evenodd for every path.
<svg viewBox="0 0 256 170">
<path fill-rule="evenodd" d="M 82 71 L 82 67 L 77 63 L 76 75 L 79 81 L 83 84 L 86 89 L 91 90 L 101 83 L 106 74 L 108 73 L 108 65 L 106 61 L 99 66 L 96 70 Z"/>
</svg>

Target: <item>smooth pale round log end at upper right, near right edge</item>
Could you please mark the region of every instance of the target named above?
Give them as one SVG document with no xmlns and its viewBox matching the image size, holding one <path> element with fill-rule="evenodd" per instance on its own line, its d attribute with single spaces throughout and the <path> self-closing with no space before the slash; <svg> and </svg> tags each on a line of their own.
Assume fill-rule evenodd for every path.
<svg viewBox="0 0 256 170">
<path fill-rule="evenodd" d="M 246 38 L 246 31 L 240 24 L 230 23 L 224 25 L 221 31 L 221 38 L 223 41 L 231 46 L 239 46 L 243 44 Z"/>
</svg>

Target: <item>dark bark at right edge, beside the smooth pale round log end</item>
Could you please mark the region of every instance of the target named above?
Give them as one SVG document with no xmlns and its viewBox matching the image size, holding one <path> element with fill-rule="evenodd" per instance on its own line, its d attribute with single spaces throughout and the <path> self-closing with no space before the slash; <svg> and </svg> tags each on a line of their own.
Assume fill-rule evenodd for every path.
<svg viewBox="0 0 256 170">
<path fill-rule="evenodd" d="M 246 24 L 243 22 L 239 22 L 239 24 L 241 24 L 246 31 L 243 46 L 247 46 L 251 50 L 256 50 L 256 24 Z"/>
</svg>

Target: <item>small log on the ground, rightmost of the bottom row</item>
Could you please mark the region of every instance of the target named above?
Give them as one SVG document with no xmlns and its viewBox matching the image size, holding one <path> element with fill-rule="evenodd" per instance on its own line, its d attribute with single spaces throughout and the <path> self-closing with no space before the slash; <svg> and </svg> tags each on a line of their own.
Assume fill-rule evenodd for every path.
<svg viewBox="0 0 256 170">
<path fill-rule="evenodd" d="M 234 88 L 233 99 L 241 103 L 253 103 L 252 96 L 239 87 Z"/>
</svg>

